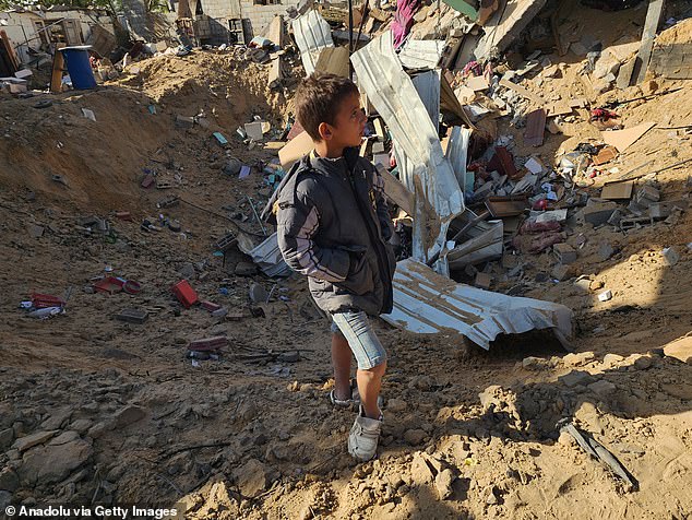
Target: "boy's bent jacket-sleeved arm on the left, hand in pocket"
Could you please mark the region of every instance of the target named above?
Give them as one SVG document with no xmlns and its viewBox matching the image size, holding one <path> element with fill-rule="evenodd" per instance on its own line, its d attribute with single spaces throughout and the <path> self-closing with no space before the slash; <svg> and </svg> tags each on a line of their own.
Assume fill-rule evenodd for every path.
<svg viewBox="0 0 692 520">
<path fill-rule="evenodd" d="M 279 204 L 278 247 L 294 271 L 325 282 L 343 282 L 348 276 L 350 256 L 344 249 L 318 246 L 312 237 L 319 224 L 320 215 L 314 203 L 309 197 L 296 193 L 294 203 Z"/>
</svg>

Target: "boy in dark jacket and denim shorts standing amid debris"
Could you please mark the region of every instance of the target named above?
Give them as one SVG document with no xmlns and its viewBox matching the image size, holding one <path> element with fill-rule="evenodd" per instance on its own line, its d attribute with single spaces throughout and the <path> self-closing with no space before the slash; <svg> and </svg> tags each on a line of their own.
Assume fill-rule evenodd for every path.
<svg viewBox="0 0 692 520">
<path fill-rule="evenodd" d="M 308 276 L 317 304 L 332 316 L 332 364 L 337 406 L 359 404 L 348 452 L 374 457 L 382 412 L 380 386 L 386 353 L 368 316 L 392 311 L 396 262 L 384 181 L 358 155 L 367 117 L 355 83 L 312 74 L 296 92 L 296 116 L 314 150 L 287 174 L 271 201 L 286 263 Z M 351 352 L 358 362 L 357 391 L 350 382 Z"/>
</svg>

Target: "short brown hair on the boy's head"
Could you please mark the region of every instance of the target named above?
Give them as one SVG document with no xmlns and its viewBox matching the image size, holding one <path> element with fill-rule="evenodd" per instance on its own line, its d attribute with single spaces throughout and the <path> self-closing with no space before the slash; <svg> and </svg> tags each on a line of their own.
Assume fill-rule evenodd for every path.
<svg viewBox="0 0 692 520">
<path fill-rule="evenodd" d="M 321 141 L 321 122 L 334 125 L 342 102 L 351 94 L 360 95 L 348 78 L 313 72 L 296 91 L 296 117 L 314 141 Z"/>
</svg>

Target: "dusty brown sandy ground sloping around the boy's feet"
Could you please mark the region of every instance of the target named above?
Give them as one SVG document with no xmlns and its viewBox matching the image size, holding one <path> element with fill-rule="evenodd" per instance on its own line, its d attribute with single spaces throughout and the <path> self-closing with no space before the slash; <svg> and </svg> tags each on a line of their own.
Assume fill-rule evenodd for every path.
<svg viewBox="0 0 692 520">
<path fill-rule="evenodd" d="M 643 20 L 645 10 L 624 13 Z M 637 27 L 629 31 L 635 39 Z M 575 82 L 580 59 L 562 60 L 563 75 L 536 82 L 536 92 L 588 94 Z M 276 132 L 265 141 L 282 132 L 288 99 L 267 90 L 266 74 L 228 55 L 194 52 L 134 63 L 96 91 L 52 96 L 48 108 L 34 108 L 36 98 L 0 102 L 2 509 L 177 505 L 192 519 L 689 518 L 692 366 L 663 347 L 691 331 L 690 212 L 627 234 L 569 223 L 580 255 L 563 282 L 547 275 L 556 263 L 549 253 L 518 256 L 514 276 L 492 267 L 493 289 L 574 310 L 575 353 L 541 333 L 501 338 L 486 353 L 453 335 L 416 336 L 379 322 L 390 353 L 385 421 L 378 459 L 357 464 L 346 450 L 354 411 L 329 403 L 329 323 L 305 281 L 241 275 L 236 268 L 247 257 L 214 255 L 237 226 L 262 232 L 250 204 L 260 208 L 271 193 L 258 162 L 276 151 L 248 150 L 236 128 L 259 115 Z M 659 91 L 681 90 L 627 105 L 625 128 L 689 125 L 690 83 L 657 82 Z M 620 93 L 636 95 L 636 87 Z M 177 116 L 200 116 L 202 125 L 176 125 Z M 521 131 L 504 125 L 499 131 L 515 132 L 522 154 Z M 552 163 L 561 146 L 598 135 L 580 114 L 525 154 Z M 691 157 L 691 149 L 689 132 L 655 128 L 609 168 L 627 173 L 653 159 L 647 168 L 656 170 Z M 250 176 L 224 173 L 231 158 L 253 166 Z M 664 200 L 688 200 L 689 172 L 688 164 L 640 182 L 656 182 Z M 148 174 L 162 189 L 142 188 Z M 605 180 L 582 190 L 597 197 Z M 157 208 L 172 194 L 177 205 Z M 108 229 L 98 231 L 93 215 Z M 143 229 L 144 220 L 156 228 Z M 604 243 L 613 249 L 607 258 Z M 661 255 L 671 246 L 675 265 Z M 142 291 L 94 292 L 106 268 Z M 575 283 L 580 274 L 590 275 L 586 284 Z M 183 277 L 228 314 L 178 304 L 170 286 Z M 266 303 L 251 302 L 252 285 L 265 289 Z M 613 297 L 601 303 L 604 289 Z M 69 296 L 65 312 L 27 317 L 19 305 L 33 292 Z M 116 320 L 126 308 L 145 309 L 148 319 Z M 217 335 L 228 338 L 220 359 L 186 357 L 189 341 Z M 560 435 L 563 418 L 608 448 L 635 488 Z"/>
</svg>

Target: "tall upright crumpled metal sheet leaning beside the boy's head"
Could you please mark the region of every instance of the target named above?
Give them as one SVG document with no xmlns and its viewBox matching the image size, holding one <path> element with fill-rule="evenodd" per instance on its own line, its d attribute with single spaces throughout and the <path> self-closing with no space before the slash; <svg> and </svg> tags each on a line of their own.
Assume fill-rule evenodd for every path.
<svg viewBox="0 0 692 520">
<path fill-rule="evenodd" d="M 350 59 L 359 86 L 410 162 L 407 168 L 420 180 L 420 189 L 411 191 L 422 194 L 440 217 L 434 236 L 426 235 L 425 222 L 414 227 L 414 258 L 425 262 L 442 248 L 450 222 L 464 211 L 464 196 L 426 107 L 394 52 L 392 33 L 383 33 Z"/>
</svg>

